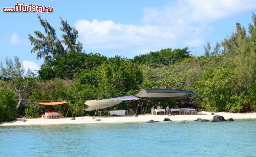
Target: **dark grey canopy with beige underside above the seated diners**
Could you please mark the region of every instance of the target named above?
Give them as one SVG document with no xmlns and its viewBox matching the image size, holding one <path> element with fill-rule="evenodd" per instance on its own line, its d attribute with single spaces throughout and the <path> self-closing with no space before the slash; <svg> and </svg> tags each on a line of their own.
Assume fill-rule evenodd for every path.
<svg viewBox="0 0 256 157">
<path fill-rule="evenodd" d="M 197 95 L 193 91 L 182 91 L 173 89 L 142 89 L 135 96 L 143 99 L 170 99 L 174 97 L 182 97 L 185 94 Z"/>
</svg>

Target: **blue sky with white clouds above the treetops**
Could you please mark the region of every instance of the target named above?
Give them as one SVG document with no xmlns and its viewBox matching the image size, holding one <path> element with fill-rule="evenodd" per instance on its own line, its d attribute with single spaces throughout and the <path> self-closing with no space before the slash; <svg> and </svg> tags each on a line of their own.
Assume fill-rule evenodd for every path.
<svg viewBox="0 0 256 157">
<path fill-rule="evenodd" d="M 254 0 L 44 0 L 1 1 L 0 61 L 18 56 L 25 69 L 38 70 L 43 59 L 31 54 L 28 34 L 44 32 L 37 13 L 6 13 L 2 7 L 25 5 L 53 7 L 39 13 L 56 29 L 61 39 L 60 17 L 78 30 L 86 53 L 133 58 L 150 51 L 188 46 L 192 55 L 202 55 L 203 45 L 216 42 L 235 31 L 236 22 L 245 28 L 255 12 Z"/>
</svg>

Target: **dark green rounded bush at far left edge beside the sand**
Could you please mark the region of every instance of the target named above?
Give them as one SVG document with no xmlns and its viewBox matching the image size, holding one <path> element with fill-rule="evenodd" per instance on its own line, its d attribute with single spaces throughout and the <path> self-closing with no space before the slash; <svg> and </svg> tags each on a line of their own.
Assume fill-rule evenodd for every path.
<svg viewBox="0 0 256 157">
<path fill-rule="evenodd" d="M 15 93 L 0 88 L 0 122 L 12 121 L 17 118 L 17 102 Z"/>
</svg>

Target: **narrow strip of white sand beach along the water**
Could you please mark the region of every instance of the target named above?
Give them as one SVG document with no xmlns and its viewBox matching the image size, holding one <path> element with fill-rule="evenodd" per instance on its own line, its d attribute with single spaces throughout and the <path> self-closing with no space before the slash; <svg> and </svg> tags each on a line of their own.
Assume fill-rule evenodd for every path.
<svg viewBox="0 0 256 157">
<path fill-rule="evenodd" d="M 0 123 L 1 126 L 27 126 L 27 125 L 56 125 L 56 124 L 91 124 L 91 123 L 141 123 L 148 122 L 149 120 L 154 121 L 163 121 L 164 118 L 169 118 L 172 121 L 194 121 L 197 118 L 207 119 L 212 121 L 213 115 L 210 115 L 211 112 L 199 112 L 197 115 L 139 115 L 135 116 L 110 116 L 110 117 L 93 117 L 85 116 L 85 117 L 76 117 L 75 120 L 71 120 L 71 117 L 67 118 L 59 118 L 59 119 L 42 119 L 42 118 L 33 118 L 26 119 L 26 122 L 23 122 L 22 118 L 18 118 L 15 121 Z M 215 115 L 221 115 L 225 119 L 233 118 L 236 119 L 256 119 L 256 113 L 226 113 L 226 112 L 218 112 L 214 113 Z M 96 121 L 100 119 L 100 121 Z"/>
</svg>

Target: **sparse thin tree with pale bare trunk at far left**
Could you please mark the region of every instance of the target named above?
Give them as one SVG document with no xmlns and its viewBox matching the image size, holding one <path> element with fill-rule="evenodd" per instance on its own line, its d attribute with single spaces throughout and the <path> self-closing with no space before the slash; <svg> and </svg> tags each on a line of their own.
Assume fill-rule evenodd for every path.
<svg viewBox="0 0 256 157">
<path fill-rule="evenodd" d="M 8 78 L 11 80 L 11 83 L 15 89 L 15 91 L 19 95 L 19 102 L 17 104 L 17 109 L 20 107 L 21 101 L 23 99 L 23 92 L 25 91 L 28 85 L 28 74 L 30 73 L 30 69 L 28 69 L 27 76 L 24 77 L 25 69 L 23 68 L 22 62 L 20 62 L 17 56 L 14 57 L 14 62 L 8 57 L 5 59 L 6 68 L 0 65 L 1 68 L 1 76 Z"/>
</svg>

